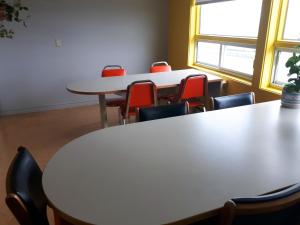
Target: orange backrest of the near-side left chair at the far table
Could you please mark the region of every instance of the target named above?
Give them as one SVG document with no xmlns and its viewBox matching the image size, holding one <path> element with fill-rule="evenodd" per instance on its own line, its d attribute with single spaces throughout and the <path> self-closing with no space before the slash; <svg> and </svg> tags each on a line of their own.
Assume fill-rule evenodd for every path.
<svg viewBox="0 0 300 225">
<path fill-rule="evenodd" d="M 126 113 L 128 113 L 131 108 L 154 106 L 156 103 L 157 89 L 152 81 L 136 81 L 128 86 Z"/>
</svg>

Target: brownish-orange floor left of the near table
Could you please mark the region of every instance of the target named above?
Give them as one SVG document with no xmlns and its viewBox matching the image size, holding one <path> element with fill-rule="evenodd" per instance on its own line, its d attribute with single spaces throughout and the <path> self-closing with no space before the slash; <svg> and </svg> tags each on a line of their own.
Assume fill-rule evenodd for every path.
<svg viewBox="0 0 300 225">
<path fill-rule="evenodd" d="M 109 125 L 118 124 L 118 112 L 108 109 Z M 18 146 L 27 147 L 43 169 L 48 160 L 69 141 L 100 129 L 98 106 L 0 117 L 0 225 L 17 225 L 5 205 L 5 177 Z M 53 224 L 52 212 L 48 217 Z"/>
</svg>

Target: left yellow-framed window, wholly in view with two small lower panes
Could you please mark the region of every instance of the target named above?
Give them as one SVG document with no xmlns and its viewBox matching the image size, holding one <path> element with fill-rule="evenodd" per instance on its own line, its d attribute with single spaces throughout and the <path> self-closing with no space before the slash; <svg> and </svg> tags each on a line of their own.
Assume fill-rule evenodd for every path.
<svg viewBox="0 0 300 225">
<path fill-rule="evenodd" d="M 193 64 L 251 79 L 262 0 L 197 6 Z"/>
</svg>

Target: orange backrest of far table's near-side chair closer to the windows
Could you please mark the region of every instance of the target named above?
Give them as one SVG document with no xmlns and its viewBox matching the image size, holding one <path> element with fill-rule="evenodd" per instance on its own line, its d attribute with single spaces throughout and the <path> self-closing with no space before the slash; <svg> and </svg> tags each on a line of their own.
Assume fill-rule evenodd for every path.
<svg viewBox="0 0 300 225">
<path fill-rule="evenodd" d="M 207 97 L 207 92 L 207 77 L 205 75 L 191 75 L 181 81 L 179 99 Z"/>
</svg>

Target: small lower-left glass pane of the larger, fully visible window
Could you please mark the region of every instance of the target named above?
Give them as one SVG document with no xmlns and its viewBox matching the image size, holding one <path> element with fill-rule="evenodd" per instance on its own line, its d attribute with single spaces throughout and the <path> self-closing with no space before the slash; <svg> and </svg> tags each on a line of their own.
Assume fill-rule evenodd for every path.
<svg viewBox="0 0 300 225">
<path fill-rule="evenodd" d="M 210 42 L 198 42 L 197 63 L 211 66 L 219 65 L 220 44 Z"/>
</svg>

